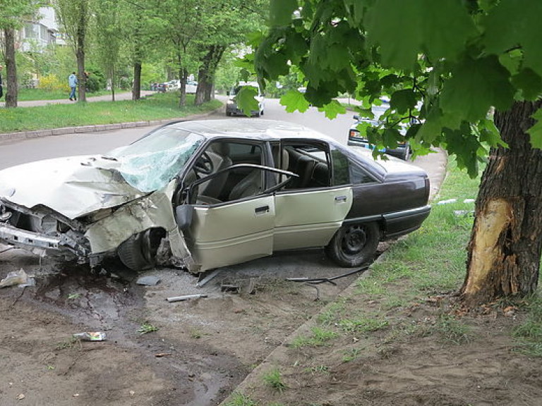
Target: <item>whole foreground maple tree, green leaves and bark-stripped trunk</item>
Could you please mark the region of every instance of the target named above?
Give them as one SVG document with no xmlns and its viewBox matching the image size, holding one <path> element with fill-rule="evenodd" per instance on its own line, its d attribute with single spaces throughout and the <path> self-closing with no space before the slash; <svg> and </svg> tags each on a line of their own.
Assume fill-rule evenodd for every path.
<svg viewBox="0 0 542 406">
<path fill-rule="evenodd" d="M 344 109 L 333 97 L 349 93 L 368 116 L 385 95 L 382 127 L 363 128 L 373 144 L 396 145 L 406 122 L 415 154 L 445 147 L 471 176 L 488 158 L 461 288 L 466 305 L 538 285 L 541 16 L 540 0 L 272 0 L 271 27 L 258 41 L 262 78 L 274 82 L 292 66 L 304 75 L 306 93 L 284 94 L 287 109 L 311 103 L 335 116 Z"/>
</svg>

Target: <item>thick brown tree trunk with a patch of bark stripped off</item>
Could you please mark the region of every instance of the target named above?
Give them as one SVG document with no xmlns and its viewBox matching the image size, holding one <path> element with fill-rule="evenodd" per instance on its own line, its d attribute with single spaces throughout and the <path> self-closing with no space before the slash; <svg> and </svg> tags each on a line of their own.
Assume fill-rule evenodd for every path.
<svg viewBox="0 0 542 406">
<path fill-rule="evenodd" d="M 525 131 L 540 106 L 542 101 L 518 101 L 509 111 L 495 113 L 508 148 L 491 149 L 482 176 L 461 289 L 466 305 L 529 295 L 538 285 L 542 151 L 531 148 Z"/>
</svg>

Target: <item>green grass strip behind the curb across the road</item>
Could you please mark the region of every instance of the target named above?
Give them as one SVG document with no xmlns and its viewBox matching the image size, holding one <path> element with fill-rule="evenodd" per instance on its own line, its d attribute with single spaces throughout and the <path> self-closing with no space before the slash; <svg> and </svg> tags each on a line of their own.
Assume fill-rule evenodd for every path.
<svg viewBox="0 0 542 406">
<path fill-rule="evenodd" d="M 138 101 L 92 101 L 0 109 L 0 133 L 182 118 L 211 111 L 222 105 L 221 101 L 212 100 L 202 106 L 194 106 L 193 95 L 188 95 L 186 99 L 187 105 L 182 109 L 179 108 L 179 98 L 174 93 L 155 94 Z"/>
</svg>

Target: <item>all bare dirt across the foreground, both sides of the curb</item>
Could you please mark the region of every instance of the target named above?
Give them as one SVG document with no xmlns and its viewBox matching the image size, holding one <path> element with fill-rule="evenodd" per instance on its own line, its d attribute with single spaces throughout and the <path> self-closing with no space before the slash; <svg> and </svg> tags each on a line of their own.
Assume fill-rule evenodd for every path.
<svg viewBox="0 0 542 406">
<path fill-rule="evenodd" d="M 282 271 L 263 278 L 270 267 Z M 224 269 L 203 288 L 174 269 L 147 273 L 161 282 L 144 287 L 116 264 L 114 277 L 90 276 L 18 250 L 0 253 L 1 278 L 20 268 L 36 285 L 0 290 L 3 406 L 216 405 L 234 390 L 258 405 L 541 405 L 540 360 L 512 352 L 510 328 L 521 313 L 466 315 L 471 339 L 454 345 L 423 328 L 444 306 L 428 301 L 397 311 L 397 326 L 339 335 L 332 347 L 293 347 L 291 338 L 310 335 L 315 322 L 306 321 L 337 295 L 351 311 L 379 306 L 351 294 L 357 276 L 318 290 L 285 281 L 344 273 L 320 251 Z M 191 294 L 207 297 L 166 300 Z M 399 328 L 404 319 L 413 331 Z M 157 330 L 141 334 L 142 326 Z M 82 331 L 104 331 L 107 340 L 73 340 Z M 282 391 L 263 379 L 274 368 Z"/>
</svg>

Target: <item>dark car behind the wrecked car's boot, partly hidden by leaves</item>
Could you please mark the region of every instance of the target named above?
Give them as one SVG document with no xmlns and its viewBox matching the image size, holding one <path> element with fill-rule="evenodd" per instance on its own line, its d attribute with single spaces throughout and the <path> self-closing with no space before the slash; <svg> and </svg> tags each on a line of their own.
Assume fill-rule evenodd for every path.
<svg viewBox="0 0 542 406">
<path fill-rule="evenodd" d="M 348 145 L 356 146 L 356 147 L 363 147 L 368 149 L 373 149 L 374 145 L 371 144 L 366 134 L 362 134 L 359 132 L 358 125 L 360 123 L 368 123 L 371 126 L 378 127 L 382 124 L 381 121 L 379 121 L 380 116 L 385 113 L 385 111 L 390 107 L 389 102 L 385 101 L 380 106 L 373 106 L 371 108 L 371 111 L 374 114 L 374 118 L 363 118 L 360 116 L 354 116 L 355 123 L 351 125 L 349 132 L 348 132 Z M 406 126 L 402 125 L 399 129 L 399 132 L 402 135 L 406 134 Z M 397 148 L 384 148 L 381 149 L 381 152 L 385 152 L 385 154 L 389 154 L 392 156 L 396 156 L 399 159 L 402 159 L 404 161 L 408 161 L 411 156 L 411 149 L 410 144 L 407 141 L 402 141 L 397 144 Z"/>
</svg>

